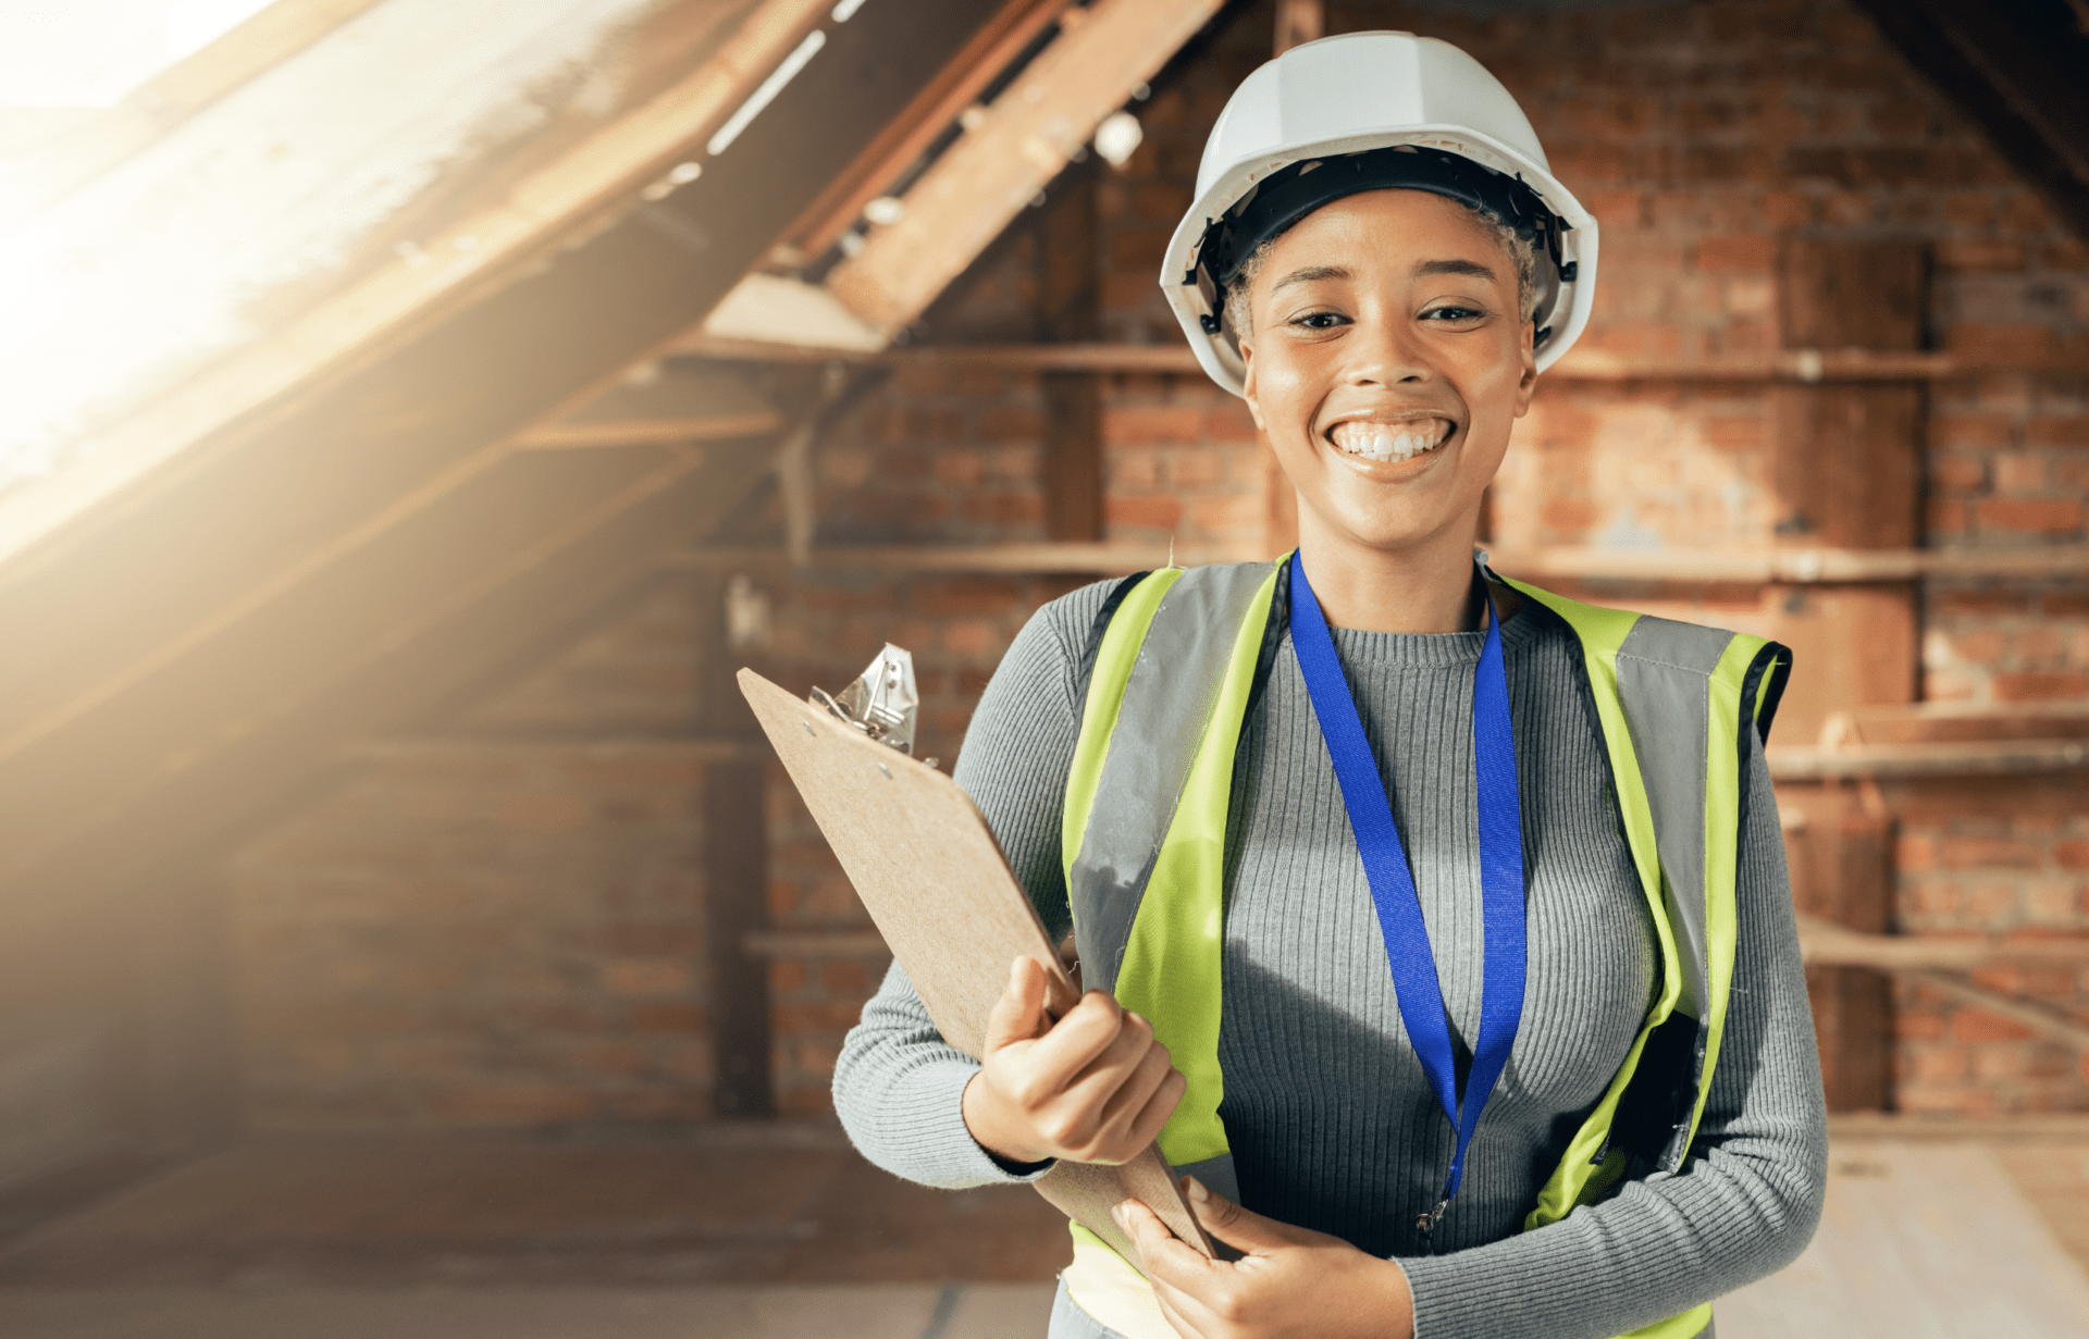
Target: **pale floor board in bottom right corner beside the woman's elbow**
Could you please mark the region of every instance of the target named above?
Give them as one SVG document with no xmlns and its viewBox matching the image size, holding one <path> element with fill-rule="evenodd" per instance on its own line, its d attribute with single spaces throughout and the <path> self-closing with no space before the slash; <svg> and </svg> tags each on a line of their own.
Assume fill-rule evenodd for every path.
<svg viewBox="0 0 2089 1339">
<path fill-rule="evenodd" d="M 1980 1145 L 1863 1141 L 1832 1147 L 1799 1262 L 1715 1312 L 1719 1339 L 2062 1339 L 2089 1283 Z"/>
</svg>

